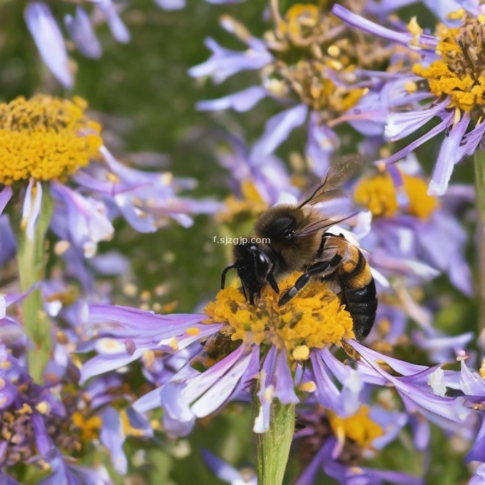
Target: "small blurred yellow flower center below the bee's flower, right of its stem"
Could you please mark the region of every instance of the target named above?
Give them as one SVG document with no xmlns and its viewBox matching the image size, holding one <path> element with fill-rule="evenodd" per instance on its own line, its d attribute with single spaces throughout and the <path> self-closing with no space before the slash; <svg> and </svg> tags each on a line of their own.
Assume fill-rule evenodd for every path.
<svg viewBox="0 0 485 485">
<path fill-rule="evenodd" d="M 374 439 L 384 434 L 384 430 L 369 417 L 369 406 L 363 404 L 352 416 L 342 418 L 328 411 L 330 427 L 337 438 L 352 439 L 362 448 L 369 448 Z"/>
</svg>

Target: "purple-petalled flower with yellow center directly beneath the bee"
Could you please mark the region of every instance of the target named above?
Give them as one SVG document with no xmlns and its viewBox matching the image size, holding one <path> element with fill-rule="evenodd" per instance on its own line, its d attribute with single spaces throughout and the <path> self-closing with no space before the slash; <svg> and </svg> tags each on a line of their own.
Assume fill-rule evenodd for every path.
<svg viewBox="0 0 485 485">
<path fill-rule="evenodd" d="M 280 288 L 293 280 L 283 280 Z M 203 343 L 198 355 L 186 360 L 165 384 L 133 404 L 141 413 L 163 407 L 163 427 L 174 435 L 188 434 L 195 419 L 218 411 L 232 399 L 247 399 L 249 389 L 257 394 L 259 407 L 255 432 L 269 427 L 274 399 L 298 403 L 310 393 L 322 406 L 348 417 L 359 409 L 368 386 L 393 387 L 406 407 L 446 423 L 464 426 L 471 415 L 463 398 L 435 393 L 429 382 L 439 367 L 392 359 L 352 339 L 352 318 L 320 283 L 310 283 L 301 296 L 281 308 L 271 289 L 265 288 L 252 307 L 240 290 L 228 287 L 209 303 L 205 315 L 155 315 L 94 305 L 89 308 L 88 324 L 96 329 L 96 338 L 80 350 L 95 349 L 98 355 L 83 364 L 82 382 L 134 362 L 147 351 L 176 355 Z M 343 345 L 351 356 L 352 352 L 361 356 L 354 367 L 335 357 L 332 344 Z M 400 375 L 382 369 L 382 361 Z"/>
</svg>

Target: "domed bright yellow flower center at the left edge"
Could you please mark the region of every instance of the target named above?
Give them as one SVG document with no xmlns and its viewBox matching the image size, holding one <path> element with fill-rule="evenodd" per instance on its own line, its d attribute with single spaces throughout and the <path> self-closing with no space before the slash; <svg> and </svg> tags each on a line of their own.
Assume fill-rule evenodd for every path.
<svg viewBox="0 0 485 485">
<path fill-rule="evenodd" d="M 88 165 L 102 145 L 86 101 L 37 95 L 0 104 L 0 183 L 64 178 Z"/>
</svg>

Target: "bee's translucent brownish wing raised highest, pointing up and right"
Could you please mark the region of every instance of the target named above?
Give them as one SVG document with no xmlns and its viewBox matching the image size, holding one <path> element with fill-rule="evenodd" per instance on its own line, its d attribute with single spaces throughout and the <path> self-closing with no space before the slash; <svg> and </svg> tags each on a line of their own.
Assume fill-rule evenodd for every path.
<svg viewBox="0 0 485 485">
<path fill-rule="evenodd" d="M 332 163 L 327 170 L 322 183 L 309 197 L 298 205 L 298 208 L 301 209 L 305 205 L 315 205 L 335 198 L 348 197 L 347 190 L 339 187 L 339 185 L 341 185 L 344 180 L 347 180 L 349 175 L 352 175 L 360 165 L 362 165 L 361 158 L 358 156 L 342 157 L 336 163 Z"/>
</svg>

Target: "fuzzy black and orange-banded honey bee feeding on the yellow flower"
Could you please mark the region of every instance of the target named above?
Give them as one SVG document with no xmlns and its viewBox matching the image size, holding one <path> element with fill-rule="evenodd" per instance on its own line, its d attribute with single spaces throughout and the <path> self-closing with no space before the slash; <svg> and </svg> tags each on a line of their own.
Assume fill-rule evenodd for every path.
<svg viewBox="0 0 485 485">
<path fill-rule="evenodd" d="M 357 340 L 367 337 L 377 311 L 377 292 L 369 264 L 359 247 L 343 235 L 327 232 L 332 225 L 352 215 L 334 220 L 313 207 L 342 197 L 344 191 L 335 183 L 348 168 L 346 163 L 332 165 L 322 184 L 300 205 L 276 205 L 262 213 L 255 223 L 252 238 L 270 242 L 235 245 L 234 262 L 223 271 L 221 288 L 224 288 L 227 272 L 234 268 L 246 300 L 254 305 L 263 286 L 270 285 L 279 294 L 278 280 L 290 272 L 302 272 L 280 297 L 278 305 L 282 307 L 290 302 L 310 280 L 327 282 L 352 316 Z"/>
</svg>

